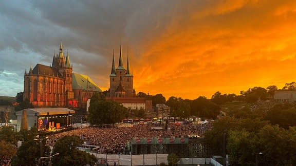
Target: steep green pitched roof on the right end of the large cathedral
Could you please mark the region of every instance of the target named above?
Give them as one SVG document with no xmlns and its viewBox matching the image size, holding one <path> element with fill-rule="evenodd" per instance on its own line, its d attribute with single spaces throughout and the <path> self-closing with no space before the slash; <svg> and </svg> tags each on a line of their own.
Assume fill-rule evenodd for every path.
<svg viewBox="0 0 296 166">
<path fill-rule="evenodd" d="M 96 85 L 96 83 L 89 78 L 88 75 L 73 73 L 72 74 L 72 88 L 73 90 L 90 90 L 96 92 L 102 92 L 102 90 Z"/>
</svg>

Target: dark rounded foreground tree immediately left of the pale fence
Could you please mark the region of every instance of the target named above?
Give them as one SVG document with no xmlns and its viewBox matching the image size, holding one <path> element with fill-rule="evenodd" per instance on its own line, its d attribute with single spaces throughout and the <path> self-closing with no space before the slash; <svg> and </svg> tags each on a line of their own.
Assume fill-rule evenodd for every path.
<svg viewBox="0 0 296 166">
<path fill-rule="evenodd" d="M 83 143 L 78 136 L 64 136 L 54 145 L 52 154 L 59 155 L 52 158 L 56 165 L 94 165 L 97 158 L 85 151 L 80 151 L 77 147 Z"/>
</svg>

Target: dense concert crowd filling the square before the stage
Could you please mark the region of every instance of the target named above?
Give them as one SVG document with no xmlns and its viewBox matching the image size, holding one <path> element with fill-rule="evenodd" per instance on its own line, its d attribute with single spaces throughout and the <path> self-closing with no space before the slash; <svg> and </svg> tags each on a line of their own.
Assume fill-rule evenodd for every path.
<svg viewBox="0 0 296 166">
<path fill-rule="evenodd" d="M 212 129 L 212 122 L 200 124 L 168 124 L 168 130 L 151 130 L 155 124 L 138 124 L 134 127 L 86 127 L 49 136 L 50 146 L 65 135 L 76 135 L 84 141 L 98 146 L 97 153 L 100 154 L 129 154 L 127 142 L 132 138 L 164 138 L 164 137 L 189 137 L 198 135 L 204 137 L 204 133 Z"/>
</svg>

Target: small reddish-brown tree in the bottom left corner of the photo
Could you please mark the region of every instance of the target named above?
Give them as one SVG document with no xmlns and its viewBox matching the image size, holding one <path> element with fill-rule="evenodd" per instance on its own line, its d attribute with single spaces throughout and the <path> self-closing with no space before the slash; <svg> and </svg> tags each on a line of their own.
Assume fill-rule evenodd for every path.
<svg viewBox="0 0 296 166">
<path fill-rule="evenodd" d="M 6 159 L 11 159 L 16 154 L 15 146 L 5 140 L 0 140 L 0 163 L 1 165 L 8 165 L 5 163 Z"/>
</svg>

